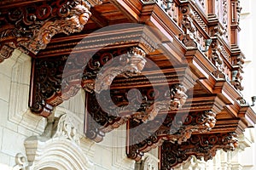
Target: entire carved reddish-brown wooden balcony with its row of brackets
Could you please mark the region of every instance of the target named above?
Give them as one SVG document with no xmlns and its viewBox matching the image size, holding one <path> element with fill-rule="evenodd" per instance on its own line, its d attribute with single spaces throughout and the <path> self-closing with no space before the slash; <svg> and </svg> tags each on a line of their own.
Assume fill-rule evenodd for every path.
<svg viewBox="0 0 256 170">
<path fill-rule="evenodd" d="M 9 2 L 0 60 L 15 48 L 32 57 L 35 114 L 83 89 L 84 134 L 101 142 L 126 124 L 127 156 L 160 147 L 160 169 L 233 150 L 256 122 L 240 92 L 238 0 Z"/>
</svg>

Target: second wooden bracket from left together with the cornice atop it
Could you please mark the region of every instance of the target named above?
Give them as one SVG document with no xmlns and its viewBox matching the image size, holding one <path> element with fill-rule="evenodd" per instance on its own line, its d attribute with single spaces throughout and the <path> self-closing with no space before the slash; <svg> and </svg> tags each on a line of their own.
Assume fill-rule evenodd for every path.
<svg viewBox="0 0 256 170">
<path fill-rule="evenodd" d="M 115 26 L 113 32 L 109 29 L 101 31 L 99 40 L 94 39 L 99 32 L 85 38 L 81 36 L 84 39 L 75 39 L 74 44 L 78 45 L 73 47 L 72 52 L 54 53 L 47 58 L 41 57 L 44 51 L 40 52 L 39 58 L 33 60 L 32 111 L 49 116 L 55 106 L 73 97 L 81 88 L 100 94 L 110 88 L 115 77 L 140 74 L 147 63 L 146 53 L 153 52 L 157 42 L 144 26 L 131 25 L 131 30 L 123 27 Z M 128 32 L 120 38 L 116 29 Z"/>
</svg>

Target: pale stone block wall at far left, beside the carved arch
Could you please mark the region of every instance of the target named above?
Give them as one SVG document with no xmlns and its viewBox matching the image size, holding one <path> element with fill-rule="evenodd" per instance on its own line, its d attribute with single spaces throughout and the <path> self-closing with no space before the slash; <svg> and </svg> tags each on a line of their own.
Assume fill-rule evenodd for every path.
<svg viewBox="0 0 256 170">
<path fill-rule="evenodd" d="M 30 71 L 31 58 L 18 50 L 0 65 L 0 169 L 15 166 L 15 155 L 25 154 L 24 140 L 44 130 L 44 118 L 27 106 Z"/>
</svg>

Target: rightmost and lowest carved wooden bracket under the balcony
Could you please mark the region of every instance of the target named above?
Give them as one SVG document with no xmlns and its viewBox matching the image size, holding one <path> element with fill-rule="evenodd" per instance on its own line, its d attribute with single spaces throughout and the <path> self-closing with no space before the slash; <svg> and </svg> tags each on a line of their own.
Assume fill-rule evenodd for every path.
<svg viewBox="0 0 256 170">
<path fill-rule="evenodd" d="M 217 150 L 235 150 L 238 145 L 236 133 L 198 134 L 183 144 L 165 142 L 160 147 L 160 169 L 169 170 L 177 164 L 196 156 L 205 161 L 212 159 Z"/>
</svg>

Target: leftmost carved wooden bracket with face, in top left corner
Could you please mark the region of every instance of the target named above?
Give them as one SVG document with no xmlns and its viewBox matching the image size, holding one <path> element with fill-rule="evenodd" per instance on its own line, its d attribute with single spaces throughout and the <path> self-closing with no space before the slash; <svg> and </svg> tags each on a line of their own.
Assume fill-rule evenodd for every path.
<svg viewBox="0 0 256 170">
<path fill-rule="evenodd" d="M 23 47 L 38 54 L 55 34 L 82 31 L 90 18 L 89 9 L 90 5 L 84 0 L 56 0 L 11 8 L 2 14 L 0 42 L 3 45 L 0 48 L 4 50 L 6 42 L 14 42 L 11 48 Z M 1 60 L 9 56 L 1 56 Z"/>
</svg>

